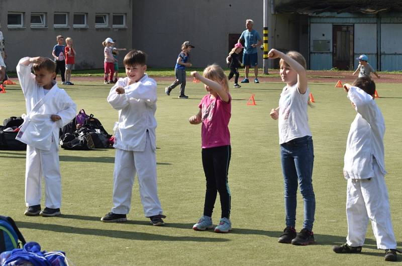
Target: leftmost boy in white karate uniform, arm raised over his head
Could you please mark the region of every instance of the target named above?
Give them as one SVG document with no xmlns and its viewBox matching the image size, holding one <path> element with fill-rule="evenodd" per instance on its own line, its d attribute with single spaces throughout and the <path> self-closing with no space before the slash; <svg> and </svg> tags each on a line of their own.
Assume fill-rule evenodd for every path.
<svg viewBox="0 0 402 266">
<path fill-rule="evenodd" d="M 31 67 L 34 74 L 31 72 Z M 16 137 L 27 144 L 25 215 L 60 215 L 61 176 L 59 129 L 74 118 L 76 105 L 57 87 L 56 65 L 49 58 L 25 57 L 17 66 L 27 115 Z M 41 179 L 45 180 L 45 209 L 41 210 Z"/>
</svg>

